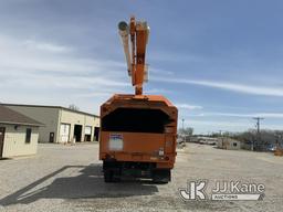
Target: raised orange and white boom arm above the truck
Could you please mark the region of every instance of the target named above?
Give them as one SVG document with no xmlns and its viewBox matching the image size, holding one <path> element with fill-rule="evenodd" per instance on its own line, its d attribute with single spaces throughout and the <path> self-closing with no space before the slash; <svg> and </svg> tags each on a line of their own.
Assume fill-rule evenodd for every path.
<svg viewBox="0 0 283 212">
<path fill-rule="evenodd" d="M 135 86 L 135 94 L 143 94 L 143 84 L 147 81 L 146 45 L 149 35 L 149 26 L 146 21 L 136 21 L 130 18 L 129 25 L 122 21 L 118 24 L 119 35 L 124 46 L 127 61 L 128 75 Z M 128 35 L 130 36 L 132 51 L 129 53 Z"/>
</svg>

